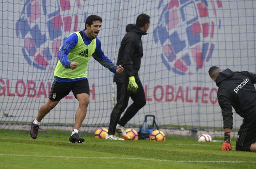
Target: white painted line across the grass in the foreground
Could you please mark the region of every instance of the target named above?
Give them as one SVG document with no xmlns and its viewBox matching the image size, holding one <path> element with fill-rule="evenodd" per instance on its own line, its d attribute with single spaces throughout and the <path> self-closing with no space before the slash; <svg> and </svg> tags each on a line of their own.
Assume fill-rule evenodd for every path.
<svg viewBox="0 0 256 169">
<path fill-rule="evenodd" d="M 41 156 L 41 155 L 25 155 L 25 154 L 2 154 L 0 156 L 11 156 L 11 157 L 41 157 L 41 158 L 80 158 L 80 159 L 114 159 L 114 160 L 144 160 L 144 161 L 164 161 L 164 162 L 178 162 L 178 163 L 256 163 L 256 161 L 175 161 L 175 160 L 161 160 L 152 158 L 126 158 L 126 157 L 75 157 L 75 156 Z"/>
</svg>

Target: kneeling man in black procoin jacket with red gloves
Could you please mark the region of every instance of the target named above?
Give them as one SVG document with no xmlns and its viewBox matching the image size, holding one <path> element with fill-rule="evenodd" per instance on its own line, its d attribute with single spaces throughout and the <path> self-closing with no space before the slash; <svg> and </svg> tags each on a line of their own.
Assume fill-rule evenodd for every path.
<svg viewBox="0 0 256 169">
<path fill-rule="evenodd" d="M 232 72 L 219 67 L 209 69 L 209 75 L 219 87 L 217 97 L 223 116 L 223 151 L 230 151 L 230 132 L 233 128 L 232 107 L 243 117 L 243 124 L 237 134 L 236 150 L 256 152 L 256 74 Z"/>
</svg>

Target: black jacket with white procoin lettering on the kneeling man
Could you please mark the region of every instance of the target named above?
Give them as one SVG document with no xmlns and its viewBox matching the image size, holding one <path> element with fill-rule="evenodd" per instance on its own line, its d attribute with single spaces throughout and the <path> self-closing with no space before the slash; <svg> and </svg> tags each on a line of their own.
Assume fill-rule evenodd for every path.
<svg viewBox="0 0 256 169">
<path fill-rule="evenodd" d="M 250 122 L 256 120 L 256 74 L 251 72 L 232 72 L 225 69 L 219 72 L 216 85 L 217 97 L 223 116 L 223 128 L 233 127 L 232 107 L 236 113 Z"/>
</svg>

